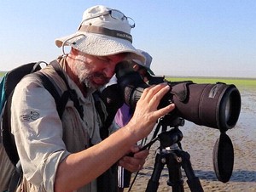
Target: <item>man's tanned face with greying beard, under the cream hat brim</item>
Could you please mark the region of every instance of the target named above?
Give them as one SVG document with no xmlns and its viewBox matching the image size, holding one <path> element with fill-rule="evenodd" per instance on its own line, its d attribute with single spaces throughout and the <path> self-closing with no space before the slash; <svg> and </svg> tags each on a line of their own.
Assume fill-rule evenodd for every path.
<svg viewBox="0 0 256 192">
<path fill-rule="evenodd" d="M 101 88 L 109 82 L 115 66 L 124 58 L 125 54 L 99 57 L 80 53 L 75 64 L 79 81 L 87 88 Z"/>
</svg>

